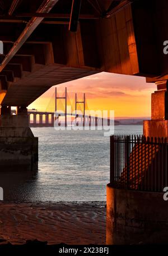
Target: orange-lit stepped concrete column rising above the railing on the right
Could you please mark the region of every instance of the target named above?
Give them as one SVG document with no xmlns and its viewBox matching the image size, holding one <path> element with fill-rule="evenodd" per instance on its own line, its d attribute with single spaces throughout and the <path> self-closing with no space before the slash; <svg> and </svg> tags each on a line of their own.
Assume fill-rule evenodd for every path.
<svg viewBox="0 0 168 256">
<path fill-rule="evenodd" d="M 156 82 L 157 91 L 152 93 L 151 120 L 143 122 L 143 134 L 148 137 L 168 137 L 167 80 Z"/>
</svg>

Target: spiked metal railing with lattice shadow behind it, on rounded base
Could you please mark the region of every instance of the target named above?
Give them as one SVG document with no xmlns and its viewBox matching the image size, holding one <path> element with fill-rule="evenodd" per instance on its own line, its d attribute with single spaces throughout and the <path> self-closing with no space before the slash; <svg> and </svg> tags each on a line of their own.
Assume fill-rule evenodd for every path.
<svg viewBox="0 0 168 256">
<path fill-rule="evenodd" d="M 110 137 L 110 183 L 115 188 L 163 191 L 168 186 L 167 138 Z"/>
</svg>

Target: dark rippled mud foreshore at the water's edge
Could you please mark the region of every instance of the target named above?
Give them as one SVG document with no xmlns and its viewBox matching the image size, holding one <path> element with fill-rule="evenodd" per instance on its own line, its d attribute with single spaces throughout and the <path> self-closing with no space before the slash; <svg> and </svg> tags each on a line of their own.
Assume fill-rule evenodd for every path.
<svg viewBox="0 0 168 256">
<path fill-rule="evenodd" d="M 0 203 L 1 239 L 105 244 L 105 203 Z"/>
</svg>

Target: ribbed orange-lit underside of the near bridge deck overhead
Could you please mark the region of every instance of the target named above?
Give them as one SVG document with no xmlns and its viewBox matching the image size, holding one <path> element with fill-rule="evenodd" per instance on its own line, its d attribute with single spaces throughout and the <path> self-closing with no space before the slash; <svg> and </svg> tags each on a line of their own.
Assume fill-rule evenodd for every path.
<svg viewBox="0 0 168 256">
<path fill-rule="evenodd" d="M 55 84 L 100 71 L 139 74 L 129 0 L 83 0 L 76 33 L 72 1 L 0 2 L 1 105 L 27 106 Z"/>
</svg>

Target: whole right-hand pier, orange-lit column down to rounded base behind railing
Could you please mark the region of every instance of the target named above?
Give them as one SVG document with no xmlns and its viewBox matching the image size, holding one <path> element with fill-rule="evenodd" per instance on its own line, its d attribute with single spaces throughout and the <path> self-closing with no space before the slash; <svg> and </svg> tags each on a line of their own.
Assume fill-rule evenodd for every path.
<svg viewBox="0 0 168 256">
<path fill-rule="evenodd" d="M 152 93 L 152 113 L 151 120 L 146 120 L 143 123 L 143 134 L 146 137 L 168 137 L 168 83 L 167 80 L 156 82 L 157 91 Z M 115 187 L 115 183 L 111 182 L 107 185 L 107 212 L 106 212 L 106 243 L 107 244 L 167 244 L 168 236 L 168 204 L 163 199 L 163 190 L 166 184 L 164 176 L 164 159 L 159 159 L 162 165 L 156 166 L 156 173 L 150 172 L 153 159 L 157 160 L 157 155 L 153 155 L 153 148 L 149 149 L 150 143 L 141 146 L 141 159 L 128 156 L 127 175 L 130 179 L 129 168 L 132 166 L 132 177 L 137 179 L 136 172 L 144 163 L 144 174 L 141 181 L 139 177 L 136 182 L 138 185 L 145 184 L 146 177 L 150 177 L 151 187 L 147 191 L 146 188 L 132 190 L 129 188 L 122 189 L 122 186 Z M 129 146 L 129 144 L 128 144 Z M 160 150 L 158 148 L 158 150 Z M 150 162 L 151 152 L 151 162 Z M 159 151 L 158 151 L 159 152 Z M 158 154 L 157 152 L 157 154 Z M 111 168 L 114 168 L 116 161 L 115 149 L 111 147 Z M 160 157 L 160 155 L 158 155 Z M 165 155 L 165 158 L 167 156 Z M 119 156 L 120 158 L 120 156 Z M 131 160 L 130 160 L 131 159 Z M 132 162 L 131 162 L 132 161 Z M 137 165 L 136 165 L 137 161 Z M 156 162 L 155 162 L 156 163 Z M 140 167 L 141 165 L 141 167 Z M 126 165 L 127 166 L 127 165 Z M 124 167 L 125 168 L 125 167 Z M 165 168 L 166 169 L 166 168 Z M 151 169 L 153 170 L 153 169 Z M 167 171 L 167 170 L 166 170 Z M 151 175 L 152 173 L 152 175 Z M 167 173 L 166 173 L 167 174 Z M 165 175 L 166 175 L 165 174 Z M 153 187 L 153 177 L 157 177 L 160 190 L 156 192 L 156 187 Z M 164 180 L 159 183 L 161 178 Z M 119 179 L 119 177 L 117 177 Z M 133 178 L 132 178 L 133 179 Z M 116 179 L 113 179 L 116 182 Z M 141 190 L 141 191 L 140 191 Z"/>
</svg>

